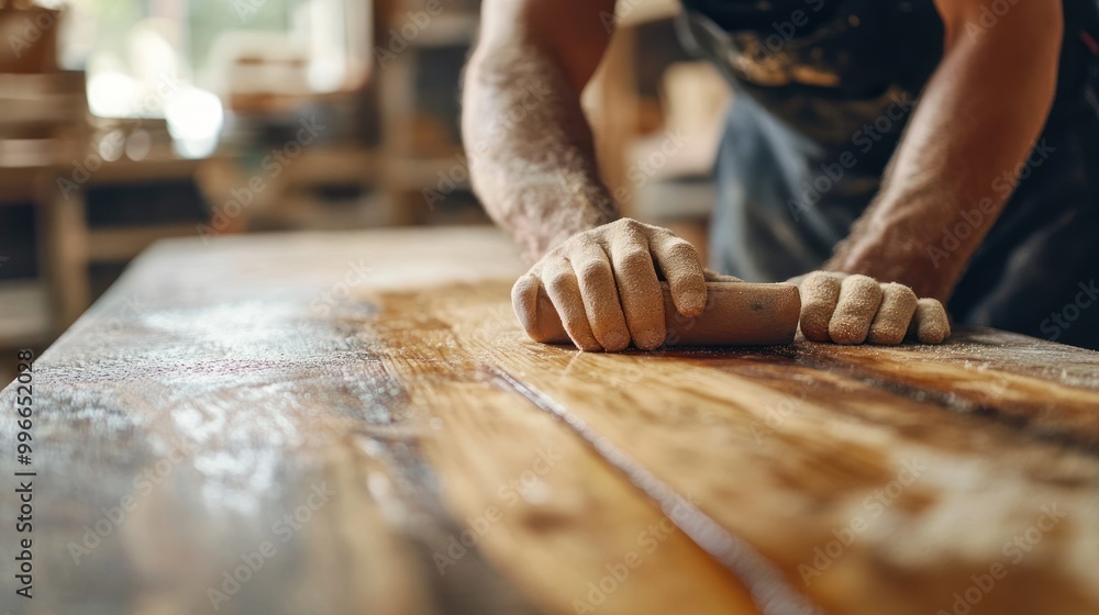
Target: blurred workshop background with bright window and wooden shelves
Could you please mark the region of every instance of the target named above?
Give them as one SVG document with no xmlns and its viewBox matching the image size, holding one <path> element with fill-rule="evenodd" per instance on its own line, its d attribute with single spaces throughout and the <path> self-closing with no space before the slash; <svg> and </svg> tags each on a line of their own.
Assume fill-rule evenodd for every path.
<svg viewBox="0 0 1099 615">
<path fill-rule="evenodd" d="M 585 92 L 604 179 L 704 249 L 729 90 L 679 2 L 619 4 Z M 0 0 L 0 350 L 44 349 L 159 238 L 488 224 L 458 130 L 478 11 Z"/>
</svg>

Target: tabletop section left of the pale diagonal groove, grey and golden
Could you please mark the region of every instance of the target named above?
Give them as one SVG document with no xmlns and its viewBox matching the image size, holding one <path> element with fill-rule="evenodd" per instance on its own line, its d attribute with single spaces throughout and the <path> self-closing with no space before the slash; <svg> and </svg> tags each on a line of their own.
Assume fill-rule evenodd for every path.
<svg viewBox="0 0 1099 615">
<path fill-rule="evenodd" d="M 657 508 L 486 379 L 444 321 L 351 299 L 512 278 L 510 254 L 468 231 L 170 242 L 140 258 L 35 365 L 36 610 L 12 613 L 212 613 L 209 589 L 265 539 L 277 554 L 219 613 L 574 613 L 607 564 L 645 551 Z M 439 574 L 434 554 L 550 443 L 554 496 L 509 507 Z M 160 483 L 75 564 L 68 543 L 157 463 Z M 274 524 L 318 485 L 334 493 L 282 543 Z M 5 489 L 0 514 L 14 506 Z M 658 532 L 600 612 L 751 612 L 728 571 Z M 15 537 L 0 526 L 5 561 Z M 13 591 L 5 575 L 3 607 Z"/>
</svg>

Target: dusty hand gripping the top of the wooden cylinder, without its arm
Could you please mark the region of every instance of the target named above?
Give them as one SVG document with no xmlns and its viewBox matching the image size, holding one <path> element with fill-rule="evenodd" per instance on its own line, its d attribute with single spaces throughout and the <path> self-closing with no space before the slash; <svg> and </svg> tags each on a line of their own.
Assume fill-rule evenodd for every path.
<svg viewBox="0 0 1099 615">
<path fill-rule="evenodd" d="M 546 253 L 515 282 L 511 301 L 535 340 L 541 340 L 539 288 L 545 288 L 581 350 L 617 353 L 631 340 L 651 350 L 667 333 L 659 280 L 667 280 L 676 310 L 693 317 L 706 309 L 707 273 L 686 239 L 622 219 L 577 233 Z"/>
</svg>

